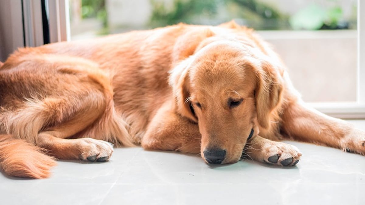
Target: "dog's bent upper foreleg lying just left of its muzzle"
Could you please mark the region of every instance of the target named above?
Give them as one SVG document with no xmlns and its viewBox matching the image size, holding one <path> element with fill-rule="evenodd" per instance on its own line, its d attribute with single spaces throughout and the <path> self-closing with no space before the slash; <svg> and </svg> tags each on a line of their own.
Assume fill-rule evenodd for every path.
<svg viewBox="0 0 365 205">
<path fill-rule="evenodd" d="M 198 125 L 176 114 L 168 104 L 165 104 L 151 120 L 142 138 L 142 147 L 147 150 L 198 154 L 200 141 Z"/>
</svg>

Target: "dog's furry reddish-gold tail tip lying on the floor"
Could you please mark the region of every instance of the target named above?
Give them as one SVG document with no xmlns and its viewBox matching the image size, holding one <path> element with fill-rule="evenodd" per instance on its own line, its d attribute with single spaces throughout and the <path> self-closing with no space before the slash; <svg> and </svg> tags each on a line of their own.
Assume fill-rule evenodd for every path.
<svg viewBox="0 0 365 205">
<path fill-rule="evenodd" d="M 13 177 L 47 178 L 56 165 L 54 158 L 44 154 L 42 148 L 15 139 L 12 135 L 0 135 L 0 167 Z"/>
</svg>

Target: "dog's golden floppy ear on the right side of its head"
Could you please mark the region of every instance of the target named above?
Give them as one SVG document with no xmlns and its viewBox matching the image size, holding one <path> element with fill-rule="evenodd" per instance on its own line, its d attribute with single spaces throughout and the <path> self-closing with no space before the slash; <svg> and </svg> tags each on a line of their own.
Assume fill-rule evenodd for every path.
<svg viewBox="0 0 365 205">
<path fill-rule="evenodd" d="M 269 62 L 264 62 L 257 69 L 257 86 L 255 90 L 258 123 L 263 128 L 270 127 L 272 111 L 281 103 L 283 80 L 277 69 Z"/>
</svg>

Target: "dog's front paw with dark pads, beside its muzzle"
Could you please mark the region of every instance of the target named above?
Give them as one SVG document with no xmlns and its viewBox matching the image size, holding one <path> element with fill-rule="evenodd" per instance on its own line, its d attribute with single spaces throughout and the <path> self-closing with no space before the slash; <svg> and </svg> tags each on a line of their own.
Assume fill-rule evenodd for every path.
<svg viewBox="0 0 365 205">
<path fill-rule="evenodd" d="M 301 155 L 298 148 L 291 144 L 273 142 L 263 147 L 263 161 L 273 165 L 296 165 Z"/>
</svg>

